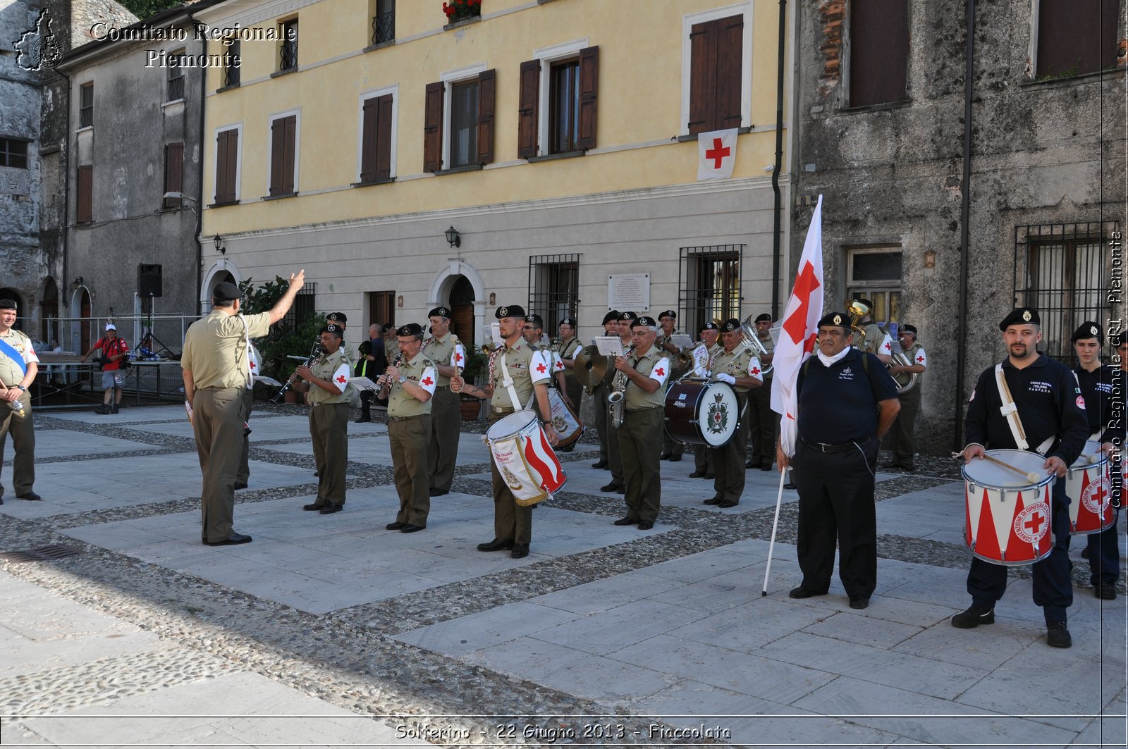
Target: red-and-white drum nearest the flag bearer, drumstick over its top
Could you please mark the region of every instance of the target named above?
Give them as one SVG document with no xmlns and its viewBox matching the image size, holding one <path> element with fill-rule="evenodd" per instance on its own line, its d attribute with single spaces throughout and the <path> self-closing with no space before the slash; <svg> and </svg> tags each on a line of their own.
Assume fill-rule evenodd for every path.
<svg viewBox="0 0 1128 749">
<path fill-rule="evenodd" d="M 1045 476 L 1037 484 L 988 460 L 963 466 L 967 505 L 964 540 L 971 553 L 992 564 L 1030 564 L 1054 549 L 1050 532 L 1050 491 L 1046 458 L 1025 450 L 988 450 L 987 455 L 1023 473 Z"/>
</svg>

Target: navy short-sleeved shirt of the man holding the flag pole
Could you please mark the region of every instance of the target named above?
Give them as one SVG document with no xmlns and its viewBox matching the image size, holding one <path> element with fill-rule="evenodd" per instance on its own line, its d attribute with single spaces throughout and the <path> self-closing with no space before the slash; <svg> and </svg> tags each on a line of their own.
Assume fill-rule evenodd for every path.
<svg viewBox="0 0 1128 749">
<path fill-rule="evenodd" d="M 869 372 L 862 358 L 869 358 Z M 878 403 L 897 399 L 897 382 L 873 354 L 851 349 L 830 367 L 817 354 L 799 368 L 799 435 L 808 442 L 861 442 L 878 431 Z"/>
</svg>

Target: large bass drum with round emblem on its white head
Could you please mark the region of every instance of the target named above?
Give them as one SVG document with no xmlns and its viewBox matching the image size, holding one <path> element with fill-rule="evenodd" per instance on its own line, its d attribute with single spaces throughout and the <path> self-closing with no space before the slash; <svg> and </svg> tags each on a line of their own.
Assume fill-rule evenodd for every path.
<svg viewBox="0 0 1128 749">
<path fill-rule="evenodd" d="M 740 402 L 726 382 L 682 380 L 666 394 L 666 431 L 679 442 L 719 448 L 740 429 Z"/>
</svg>

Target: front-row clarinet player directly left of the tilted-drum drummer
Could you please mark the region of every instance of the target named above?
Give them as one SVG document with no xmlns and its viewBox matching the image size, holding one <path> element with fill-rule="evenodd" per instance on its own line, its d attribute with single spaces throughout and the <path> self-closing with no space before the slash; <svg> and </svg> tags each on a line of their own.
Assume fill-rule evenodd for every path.
<svg viewBox="0 0 1128 749">
<path fill-rule="evenodd" d="M 443 309 L 443 308 L 439 308 Z M 432 324 L 433 324 L 433 317 Z M 399 512 L 388 530 L 414 534 L 426 528 L 431 512 L 432 490 L 428 470 L 428 450 L 433 422 L 432 397 L 437 388 L 433 361 L 423 353 L 423 327 L 408 323 L 396 331 L 404 361 L 385 372 L 380 396 L 388 398 L 388 443 L 391 446 L 391 465 L 395 469 Z M 446 492 L 443 492 L 446 494 Z"/>
</svg>

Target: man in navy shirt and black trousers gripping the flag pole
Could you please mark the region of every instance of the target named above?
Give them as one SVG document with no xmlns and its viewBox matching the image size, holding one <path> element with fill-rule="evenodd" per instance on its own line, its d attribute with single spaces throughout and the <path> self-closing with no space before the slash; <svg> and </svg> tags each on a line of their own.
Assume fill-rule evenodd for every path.
<svg viewBox="0 0 1128 749">
<path fill-rule="evenodd" d="M 864 609 L 878 585 L 874 469 L 881 437 L 901 404 L 897 382 L 875 355 L 851 346 L 849 317 L 819 320 L 819 346 L 799 371 L 799 442 L 792 481 L 799 488 L 799 566 L 792 598 L 826 596 L 838 541 L 838 578 L 849 606 Z M 787 455 L 777 444 L 781 470 Z"/>
</svg>

